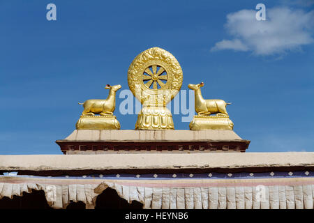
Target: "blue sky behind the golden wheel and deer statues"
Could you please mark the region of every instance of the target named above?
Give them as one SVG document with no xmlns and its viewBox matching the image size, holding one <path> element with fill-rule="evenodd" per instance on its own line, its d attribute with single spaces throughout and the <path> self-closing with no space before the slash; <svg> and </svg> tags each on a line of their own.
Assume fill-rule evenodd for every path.
<svg viewBox="0 0 314 223">
<path fill-rule="evenodd" d="M 54 141 L 75 129 L 77 102 L 106 98 L 105 84 L 128 89 L 128 66 L 150 47 L 177 58 L 181 89 L 203 81 L 204 98 L 232 102 L 248 152 L 314 151 L 313 10 L 306 0 L 1 0 L 0 154 L 61 154 Z M 135 128 L 137 115 L 115 114 Z M 174 127 L 188 123 L 174 115 Z"/>
</svg>

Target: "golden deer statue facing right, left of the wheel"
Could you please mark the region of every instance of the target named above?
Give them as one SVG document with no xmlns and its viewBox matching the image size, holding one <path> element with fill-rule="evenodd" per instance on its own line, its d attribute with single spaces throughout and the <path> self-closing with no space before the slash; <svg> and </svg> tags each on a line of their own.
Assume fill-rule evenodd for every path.
<svg viewBox="0 0 314 223">
<path fill-rule="evenodd" d="M 121 89 L 121 85 L 110 86 L 107 84 L 105 89 L 110 89 L 107 99 L 90 99 L 84 103 L 84 110 L 82 116 L 94 116 L 100 114 L 100 116 L 113 115 L 114 109 L 116 108 L 116 92 Z"/>
</svg>

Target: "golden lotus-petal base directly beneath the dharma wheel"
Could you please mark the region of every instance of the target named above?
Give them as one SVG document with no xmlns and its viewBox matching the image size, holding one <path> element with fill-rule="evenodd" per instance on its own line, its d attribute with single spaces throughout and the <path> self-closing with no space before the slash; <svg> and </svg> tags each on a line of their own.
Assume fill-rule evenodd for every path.
<svg viewBox="0 0 314 223">
<path fill-rule="evenodd" d="M 145 106 L 137 116 L 135 130 L 174 130 L 172 114 L 167 107 Z"/>
</svg>

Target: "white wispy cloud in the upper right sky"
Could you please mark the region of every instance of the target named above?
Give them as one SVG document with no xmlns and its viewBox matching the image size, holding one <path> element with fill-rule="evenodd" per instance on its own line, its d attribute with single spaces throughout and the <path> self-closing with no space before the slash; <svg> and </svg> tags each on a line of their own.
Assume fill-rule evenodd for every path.
<svg viewBox="0 0 314 223">
<path fill-rule="evenodd" d="M 233 49 L 257 55 L 282 54 L 314 42 L 314 10 L 266 8 L 266 21 L 257 21 L 257 10 L 239 10 L 227 15 L 225 28 L 232 40 L 221 40 L 211 51 Z"/>
</svg>

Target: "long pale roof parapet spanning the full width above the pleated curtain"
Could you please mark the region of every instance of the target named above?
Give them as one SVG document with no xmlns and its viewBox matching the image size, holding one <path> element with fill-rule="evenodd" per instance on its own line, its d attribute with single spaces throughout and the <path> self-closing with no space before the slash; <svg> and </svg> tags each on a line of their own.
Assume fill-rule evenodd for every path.
<svg viewBox="0 0 314 223">
<path fill-rule="evenodd" d="M 0 155 L 1 171 L 314 167 L 314 152 Z"/>
</svg>

